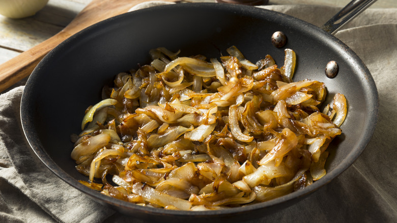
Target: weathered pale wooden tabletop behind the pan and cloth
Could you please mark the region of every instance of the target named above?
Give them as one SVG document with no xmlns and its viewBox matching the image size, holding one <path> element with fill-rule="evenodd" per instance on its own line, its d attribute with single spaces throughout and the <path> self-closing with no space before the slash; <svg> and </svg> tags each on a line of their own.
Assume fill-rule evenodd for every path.
<svg viewBox="0 0 397 223">
<path fill-rule="evenodd" d="M 10 19 L 0 15 L 0 64 L 60 32 L 90 2 L 91 0 L 50 0 L 41 11 L 28 18 Z M 270 0 L 269 4 L 321 4 L 343 7 L 349 2 L 350 0 Z M 397 1 L 379 0 L 371 8 L 397 8 Z M 23 85 L 26 79 L 8 90 Z"/>
</svg>

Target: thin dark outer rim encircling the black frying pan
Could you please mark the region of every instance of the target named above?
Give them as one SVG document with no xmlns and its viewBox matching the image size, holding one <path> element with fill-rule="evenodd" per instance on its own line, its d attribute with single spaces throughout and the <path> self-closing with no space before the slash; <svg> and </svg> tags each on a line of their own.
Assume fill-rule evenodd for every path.
<svg viewBox="0 0 397 223">
<path fill-rule="evenodd" d="M 156 6 L 156 7 L 151 7 L 147 9 L 141 9 L 129 13 L 125 13 L 122 15 L 118 15 L 109 19 L 106 19 L 104 21 L 101 21 L 99 23 L 96 23 L 92 26 L 87 27 L 86 29 L 74 34 L 72 37 L 68 38 L 66 41 L 62 42 L 59 46 L 55 47 L 53 50 L 51 50 L 46 57 L 42 60 L 42 62 L 39 63 L 39 65 L 36 67 L 36 69 L 33 71 L 31 77 L 28 79 L 26 83 L 26 87 L 23 91 L 22 98 L 21 98 L 21 106 L 20 106 L 20 114 L 21 114 L 21 123 L 22 123 L 22 128 L 25 134 L 25 137 L 27 139 L 27 142 L 29 143 L 30 147 L 33 149 L 35 154 L 40 158 L 40 160 L 47 166 L 48 169 L 50 169 L 55 175 L 60 177 L 62 180 L 64 180 L 66 183 L 69 185 L 77 188 L 78 190 L 82 191 L 84 194 L 87 194 L 89 197 L 99 199 L 99 202 L 105 203 L 105 204 L 110 204 L 110 205 L 115 205 L 115 206 L 123 206 L 128 209 L 134 209 L 138 211 L 143 211 L 143 212 L 148 212 L 151 214 L 161 214 L 161 215 L 185 215 L 185 216 L 214 216 L 214 215 L 231 215 L 231 214 L 239 214 L 243 212 L 249 212 L 252 210 L 258 210 L 258 209 L 264 209 L 268 208 L 274 205 L 278 205 L 281 203 L 286 203 L 287 201 L 291 200 L 296 200 L 297 198 L 301 198 L 306 196 L 307 194 L 313 193 L 314 191 L 318 190 L 322 186 L 328 184 L 331 180 L 336 178 L 338 175 L 340 175 L 343 171 L 345 171 L 350 165 L 354 163 L 354 161 L 358 158 L 358 156 L 362 153 L 362 151 L 365 149 L 366 145 L 370 142 L 371 137 L 365 137 L 362 140 L 360 139 L 359 144 L 356 145 L 357 149 L 353 150 L 353 154 L 349 154 L 348 157 L 346 157 L 345 160 L 343 160 L 335 169 L 333 169 L 330 173 L 327 173 L 322 179 L 317 181 L 316 183 L 306 187 L 305 189 L 295 191 L 293 193 L 287 194 L 286 196 L 282 196 L 280 198 L 270 200 L 267 202 L 262 202 L 258 204 L 252 204 L 252 205 L 247 205 L 244 207 L 236 207 L 236 208 L 231 208 L 231 209 L 224 209 L 224 210 L 212 210 L 212 211 L 201 211 L 201 212 L 192 212 L 192 211 L 176 211 L 176 210 L 164 210 L 164 209 L 157 209 L 157 208 L 147 208 L 147 207 L 141 207 L 129 202 L 121 201 L 115 198 L 110 198 L 107 197 L 103 194 L 98 193 L 97 191 L 94 191 L 86 186 L 83 186 L 80 184 L 77 180 L 75 180 L 73 177 L 68 175 L 65 171 L 63 171 L 46 153 L 45 148 L 41 145 L 40 141 L 38 140 L 37 133 L 35 132 L 34 128 L 34 123 L 30 121 L 30 116 L 32 112 L 32 106 L 29 102 L 31 95 L 30 90 L 32 90 L 32 86 L 35 85 L 34 79 L 37 75 L 40 74 L 40 69 L 44 69 L 45 63 L 54 55 L 56 55 L 56 52 L 60 51 L 62 47 L 66 47 L 67 44 L 70 44 L 70 42 L 75 41 L 78 39 L 80 36 L 84 36 L 89 32 L 101 32 L 101 27 L 105 26 L 107 24 L 114 24 L 119 20 L 124 19 L 125 17 L 133 17 L 135 15 L 139 15 L 142 13 L 153 13 L 153 11 L 156 10 L 167 10 L 168 8 L 180 8 L 180 9 L 185 9 L 186 7 L 195 7 L 195 8 L 202 8 L 205 9 L 207 7 L 210 8 L 215 8 L 215 9 L 221 9 L 221 10 L 232 10 L 232 11 L 238 11 L 240 13 L 249 13 L 250 15 L 255 15 L 255 16 L 262 16 L 263 14 L 270 14 L 270 15 L 275 15 L 277 19 L 279 17 L 283 17 L 283 19 L 286 19 L 288 22 L 299 22 L 303 23 L 305 26 L 309 27 L 309 29 L 314 30 L 317 35 L 320 35 L 322 37 L 327 37 L 332 39 L 332 44 L 339 44 L 342 45 L 343 48 L 346 50 L 346 53 L 348 53 L 352 60 L 354 60 L 356 63 L 358 62 L 358 65 L 362 66 L 364 68 L 363 70 L 363 78 L 369 80 L 370 85 L 372 85 L 372 88 L 375 88 L 376 94 L 370 95 L 370 98 L 368 98 L 368 101 L 373 102 L 374 104 L 374 109 L 372 110 L 373 117 L 371 117 L 370 120 L 367 120 L 368 124 L 367 126 L 367 131 L 370 132 L 370 136 L 373 135 L 375 131 L 375 126 L 377 123 L 378 119 L 378 105 L 379 105 L 379 98 L 378 98 L 378 93 L 376 91 L 376 85 L 375 81 L 373 80 L 370 72 L 364 65 L 364 63 L 361 61 L 361 59 L 358 58 L 358 56 L 351 50 L 346 44 L 344 44 L 341 40 L 337 39 L 336 37 L 326 33 L 325 31 L 322 31 L 319 27 L 307 23 L 303 20 L 297 19 L 295 17 L 262 9 L 262 8 L 256 8 L 256 7 L 250 7 L 250 6 L 237 6 L 237 5 L 229 5 L 229 4 L 219 4 L 219 3 L 185 3 L 185 4 L 171 4 L 171 5 L 163 5 L 163 6 Z M 34 105 L 33 105 L 34 106 Z"/>
</svg>

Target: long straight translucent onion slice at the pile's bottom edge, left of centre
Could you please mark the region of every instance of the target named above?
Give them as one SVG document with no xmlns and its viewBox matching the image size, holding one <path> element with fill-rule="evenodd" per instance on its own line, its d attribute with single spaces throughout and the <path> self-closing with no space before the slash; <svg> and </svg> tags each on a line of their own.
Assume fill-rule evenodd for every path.
<svg viewBox="0 0 397 223">
<path fill-rule="evenodd" d="M 174 206 L 179 210 L 188 211 L 191 207 L 189 201 L 169 196 L 168 194 L 158 191 L 143 183 L 132 185 L 132 192 L 141 196 L 145 201 L 161 207 Z"/>
</svg>

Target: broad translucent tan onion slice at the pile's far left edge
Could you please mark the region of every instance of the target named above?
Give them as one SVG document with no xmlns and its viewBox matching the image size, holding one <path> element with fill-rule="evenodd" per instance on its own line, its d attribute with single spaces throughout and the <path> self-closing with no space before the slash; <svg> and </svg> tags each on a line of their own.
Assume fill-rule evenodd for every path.
<svg viewBox="0 0 397 223">
<path fill-rule="evenodd" d="M 88 138 L 86 141 L 74 147 L 71 157 L 78 160 L 80 156 L 90 155 L 98 151 L 100 148 L 106 146 L 110 142 L 109 134 L 99 134 Z"/>
</svg>

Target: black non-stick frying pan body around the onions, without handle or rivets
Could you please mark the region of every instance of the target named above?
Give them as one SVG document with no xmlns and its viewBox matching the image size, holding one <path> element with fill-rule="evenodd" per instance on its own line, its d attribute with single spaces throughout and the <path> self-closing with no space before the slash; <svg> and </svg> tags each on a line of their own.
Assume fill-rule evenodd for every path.
<svg viewBox="0 0 397 223">
<path fill-rule="evenodd" d="M 272 46 L 275 31 L 287 35 L 287 45 Z M 148 51 L 166 47 L 181 55 L 208 58 L 227 54 L 235 45 L 256 62 L 266 54 L 281 66 L 285 48 L 297 54 L 294 80 L 326 83 L 328 102 L 335 93 L 346 96 L 348 116 L 343 134 L 329 147 L 327 175 L 287 196 L 241 208 L 186 212 L 140 207 L 112 199 L 77 182 L 87 180 L 70 158 L 71 133 L 79 133 L 84 110 L 100 100 L 102 86 L 119 72 L 149 62 Z M 220 51 L 219 51 L 220 50 Z M 334 60 L 339 73 L 324 74 Z M 27 81 L 21 102 L 21 119 L 27 140 L 39 158 L 56 175 L 96 201 L 148 220 L 181 222 L 241 220 L 261 217 L 297 202 L 342 173 L 370 140 L 377 121 L 378 95 L 374 80 L 357 55 L 341 41 L 299 19 L 259 8 L 226 4 L 176 4 L 139 10 L 95 24 L 52 50 Z M 192 218 L 192 216 L 195 216 Z"/>
</svg>

